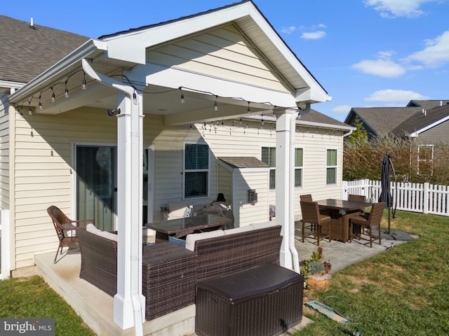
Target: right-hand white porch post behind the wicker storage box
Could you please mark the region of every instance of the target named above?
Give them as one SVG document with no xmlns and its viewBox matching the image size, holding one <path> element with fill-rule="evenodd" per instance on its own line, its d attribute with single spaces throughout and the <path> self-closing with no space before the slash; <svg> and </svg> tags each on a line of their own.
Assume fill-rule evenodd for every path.
<svg viewBox="0 0 449 336">
<path fill-rule="evenodd" d="M 290 132 L 292 119 L 297 111 L 276 112 L 276 223 L 282 225 L 281 266 L 293 269 L 293 255 L 290 251 L 290 238 L 295 230 L 293 209 L 291 209 L 290 186 L 295 183 L 290 174 L 293 165 L 290 155 Z"/>
</svg>

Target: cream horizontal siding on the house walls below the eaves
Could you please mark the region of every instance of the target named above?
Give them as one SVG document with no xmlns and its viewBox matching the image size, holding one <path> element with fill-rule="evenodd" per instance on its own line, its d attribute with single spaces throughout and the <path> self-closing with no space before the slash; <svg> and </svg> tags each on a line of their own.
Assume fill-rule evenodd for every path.
<svg viewBox="0 0 449 336">
<path fill-rule="evenodd" d="M 55 204 L 67 216 L 74 217 L 72 144 L 116 144 L 116 118 L 96 109 L 81 109 L 59 116 L 17 115 L 15 118 L 15 267 L 25 267 L 34 264 L 34 254 L 55 253 L 58 247 L 47 207 Z M 182 200 L 185 141 L 203 141 L 210 147 L 209 196 L 193 200 L 196 209 L 201 209 L 215 200 L 217 193 L 226 190 L 225 194 L 232 193 L 229 202 L 241 221 L 237 225 L 268 220 L 269 204 L 274 204 L 274 193 L 268 190 L 268 173 L 243 172 L 237 177 L 221 174 L 217 157 L 253 156 L 260 159 L 262 144 L 276 146 L 273 125 L 265 123 L 261 129 L 260 123 L 247 125 L 236 120 L 232 125 L 231 121 L 225 121 L 216 132 L 215 127 L 210 132 L 203 130 L 202 124 L 192 128 L 189 125 L 164 127 L 163 118 L 159 116 L 145 116 L 143 123 L 144 145 L 154 148 L 154 200 L 149 201 L 155 209 L 154 220 L 163 218 L 160 207 L 166 207 L 169 201 Z M 339 197 L 340 183 L 326 186 L 325 165 L 326 148 L 341 148 L 341 137 L 321 131 L 315 132 L 313 137 L 310 132 L 297 132 L 297 144 L 304 148 L 304 187 L 297 189 L 297 195 L 304 191 L 312 193 L 314 198 Z M 339 150 L 339 176 L 341 158 Z M 246 204 L 248 189 L 256 190 L 257 204 Z M 299 196 L 297 199 L 299 204 Z"/>
</svg>

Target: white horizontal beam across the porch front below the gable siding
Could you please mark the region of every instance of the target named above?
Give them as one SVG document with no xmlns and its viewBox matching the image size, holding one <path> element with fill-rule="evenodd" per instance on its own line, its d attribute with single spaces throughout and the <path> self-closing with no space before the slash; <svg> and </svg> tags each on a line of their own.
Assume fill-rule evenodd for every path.
<svg viewBox="0 0 449 336">
<path fill-rule="evenodd" d="M 289 92 L 267 90 L 263 87 L 255 87 L 232 80 L 223 80 L 199 73 L 192 73 L 180 69 L 166 68 L 156 64 L 146 64 L 143 68 L 138 67 L 135 71 L 148 73 L 147 85 L 160 85 L 164 87 L 192 87 L 194 90 L 210 92 L 218 97 L 235 97 L 244 99 L 246 102 L 265 103 L 273 106 L 284 106 L 293 108 L 296 106 L 295 97 Z M 132 75 L 131 75 L 132 76 Z"/>
</svg>

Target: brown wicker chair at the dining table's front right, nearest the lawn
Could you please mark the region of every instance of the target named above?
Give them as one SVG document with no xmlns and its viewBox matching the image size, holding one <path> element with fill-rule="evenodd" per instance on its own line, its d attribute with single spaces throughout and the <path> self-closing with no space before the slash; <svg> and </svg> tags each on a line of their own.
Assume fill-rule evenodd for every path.
<svg viewBox="0 0 449 336">
<path fill-rule="evenodd" d="M 382 214 L 384 214 L 384 207 L 385 202 L 374 203 L 369 214 L 349 218 L 349 241 L 352 241 L 352 237 L 358 237 L 358 239 L 370 241 L 370 247 L 373 247 L 373 226 L 377 226 L 377 230 L 379 231 L 379 245 L 382 244 L 382 237 L 380 234 L 380 221 L 382 220 Z M 352 233 L 354 232 L 354 225 L 361 226 L 360 233 Z M 368 234 L 365 234 L 363 230 L 364 228 L 369 228 Z M 368 235 L 369 239 L 363 238 L 363 235 Z"/>
</svg>

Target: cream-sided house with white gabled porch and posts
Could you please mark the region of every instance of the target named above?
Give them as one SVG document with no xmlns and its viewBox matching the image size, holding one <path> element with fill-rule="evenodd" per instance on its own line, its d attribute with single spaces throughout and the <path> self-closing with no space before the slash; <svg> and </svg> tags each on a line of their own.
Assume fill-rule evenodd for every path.
<svg viewBox="0 0 449 336">
<path fill-rule="evenodd" d="M 54 39 L 39 34 L 67 34 L 25 28 L 11 43 L 39 40 L 49 54 Z M 141 288 L 141 277 L 126 270 L 141 268 L 142 223 L 162 220 L 170 201 L 189 200 L 201 211 L 217 193 L 232 204 L 237 226 L 269 221 L 276 205 L 281 263 L 292 268 L 299 195 L 341 197 L 343 139 L 354 127 L 309 109 L 330 99 L 326 90 L 254 3 L 76 45 L 31 78 L 10 69 L 10 58 L 40 57 L 19 52 L 0 61 L 13 75 L 0 78 L 1 225 L 9 230 L 2 257 L 8 254 L 9 268 L 20 272 L 34 255 L 55 252 L 50 205 L 95 218 L 98 228 L 119 231 L 114 318 L 129 328 L 130 283 Z"/>
</svg>

